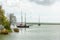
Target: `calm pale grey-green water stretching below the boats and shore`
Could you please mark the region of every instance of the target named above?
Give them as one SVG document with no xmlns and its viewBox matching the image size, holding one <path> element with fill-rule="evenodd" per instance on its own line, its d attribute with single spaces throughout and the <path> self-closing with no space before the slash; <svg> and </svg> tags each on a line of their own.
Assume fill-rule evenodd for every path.
<svg viewBox="0 0 60 40">
<path fill-rule="evenodd" d="M 60 40 L 60 25 L 34 25 L 19 33 L 0 35 L 0 40 Z"/>
</svg>

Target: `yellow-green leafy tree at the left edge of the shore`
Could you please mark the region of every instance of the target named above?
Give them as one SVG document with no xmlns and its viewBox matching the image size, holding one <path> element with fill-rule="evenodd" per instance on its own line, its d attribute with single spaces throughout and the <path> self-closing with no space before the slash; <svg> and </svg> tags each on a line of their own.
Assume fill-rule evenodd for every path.
<svg viewBox="0 0 60 40">
<path fill-rule="evenodd" d="M 10 22 L 7 20 L 2 6 L 0 6 L 0 25 L 3 25 L 6 29 L 10 29 Z"/>
</svg>

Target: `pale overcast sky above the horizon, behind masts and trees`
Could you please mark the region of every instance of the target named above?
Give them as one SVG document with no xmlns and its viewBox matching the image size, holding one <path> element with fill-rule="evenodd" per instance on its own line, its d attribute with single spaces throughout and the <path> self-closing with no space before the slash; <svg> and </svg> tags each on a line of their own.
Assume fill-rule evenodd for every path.
<svg viewBox="0 0 60 40">
<path fill-rule="evenodd" d="M 21 13 L 23 21 L 26 14 L 27 22 L 46 22 L 60 23 L 60 0 L 0 0 L 8 16 L 14 13 L 17 22 L 21 21 Z"/>
</svg>

